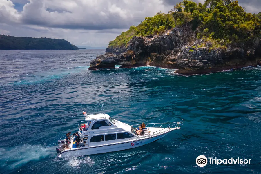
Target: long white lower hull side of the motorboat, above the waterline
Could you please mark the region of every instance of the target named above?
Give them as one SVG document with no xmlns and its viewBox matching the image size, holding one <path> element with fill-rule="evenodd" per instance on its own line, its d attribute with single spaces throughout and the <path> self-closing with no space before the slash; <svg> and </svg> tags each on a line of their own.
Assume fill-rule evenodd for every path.
<svg viewBox="0 0 261 174">
<path fill-rule="evenodd" d="M 111 145 L 103 145 L 103 146 L 94 146 L 94 147 L 88 147 L 88 148 L 82 148 L 82 149 L 75 149 L 75 150 L 69 150 L 62 152 L 58 155 L 59 158 L 64 157 L 75 157 L 75 156 L 84 156 L 84 155 L 92 155 L 92 154 L 99 154 L 99 153 L 107 153 L 107 152 L 114 152 L 114 151 L 122 151 L 126 149 L 136 148 L 143 146 L 145 144 L 151 143 L 153 141 L 157 141 L 158 139 L 164 137 L 172 130 L 167 131 L 166 133 L 163 133 L 161 135 L 148 137 L 144 139 L 137 139 L 132 141 L 126 141 L 121 142 L 117 144 L 111 144 Z"/>
</svg>

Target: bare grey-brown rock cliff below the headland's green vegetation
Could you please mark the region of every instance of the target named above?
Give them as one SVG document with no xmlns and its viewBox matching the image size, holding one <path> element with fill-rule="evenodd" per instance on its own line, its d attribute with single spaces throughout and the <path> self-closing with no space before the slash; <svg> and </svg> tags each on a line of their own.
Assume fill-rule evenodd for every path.
<svg viewBox="0 0 261 174">
<path fill-rule="evenodd" d="M 213 49 L 212 43 L 197 39 L 197 31 L 191 26 L 175 27 L 153 38 L 134 36 L 124 53 L 106 52 L 90 63 L 90 70 L 151 65 L 175 68 L 180 74 L 200 74 L 261 65 L 260 38 L 254 39 L 248 48 Z"/>
</svg>

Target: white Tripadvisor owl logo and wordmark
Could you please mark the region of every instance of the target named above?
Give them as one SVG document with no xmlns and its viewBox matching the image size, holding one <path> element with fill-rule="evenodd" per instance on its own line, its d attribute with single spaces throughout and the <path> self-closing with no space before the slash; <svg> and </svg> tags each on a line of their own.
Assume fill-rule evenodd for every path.
<svg viewBox="0 0 261 174">
<path fill-rule="evenodd" d="M 209 159 L 209 160 L 208 160 Z M 251 159 L 239 159 L 239 158 L 229 158 L 229 159 L 217 159 L 215 158 L 207 158 L 204 155 L 199 155 L 196 158 L 196 164 L 200 167 L 204 167 L 208 164 L 250 164 Z"/>
</svg>

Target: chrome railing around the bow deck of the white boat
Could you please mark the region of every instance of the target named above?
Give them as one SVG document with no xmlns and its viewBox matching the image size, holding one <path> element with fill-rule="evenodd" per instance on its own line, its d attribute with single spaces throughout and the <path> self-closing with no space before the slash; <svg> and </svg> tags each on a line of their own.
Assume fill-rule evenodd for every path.
<svg viewBox="0 0 261 174">
<path fill-rule="evenodd" d="M 162 128 L 161 130 L 158 130 L 158 131 L 155 131 L 155 132 L 151 132 L 149 133 L 149 135 L 137 135 L 137 138 L 136 137 L 132 137 L 130 138 L 128 141 L 132 140 L 132 139 L 135 139 L 136 140 L 139 138 L 139 139 L 145 139 L 146 137 L 152 137 L 153 135 L 160 135 L 160 133 L 165 133 L 168 129 L 171 130 L 171 128 L 178 128 L 180 125 L 183 125 L 184 122 L 173 122 L 173 123 L 146 123 L 145 124 L 145 127 L 147 127 L 148 125 L 148 128 L 153 128 L 153 127 L 157 127 L 157 126 L 160 126 L 160 127 L 157 127 L 157 128 Z M 135 126 L 135 127 L 138 127 L 140 124 L 134 124 L 134 125 L 131 125 L 131 127 Z M 150 125 L 153 125 L 152 127 L 150 127 Z M 156 125 L 156 126 L 155 126 Z M 168 125 L 168 126 L 165 126 L 165 125 Z M 175 127 L 174 127 L 175 126 Z M 134 128 L 135 128 L 134 127 Z"/>
</svg>

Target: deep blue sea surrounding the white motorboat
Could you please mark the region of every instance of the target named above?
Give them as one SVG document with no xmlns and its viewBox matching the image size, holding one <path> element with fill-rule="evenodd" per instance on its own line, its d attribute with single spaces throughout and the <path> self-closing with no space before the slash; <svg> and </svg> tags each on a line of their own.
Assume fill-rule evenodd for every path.
<svg viewBox="0 0 261 174">
<path fill-rule="evenodd" d="M 0 173 L 260 173 L 261 67 L 176 75 L 157 67 L 88 70 L 104 50 L 0 52 Z M 185 121 L 157 142 L 58 159 L 82 111 L 127 124 Z M 251 164 L 196 165 L 198 155 Z"/>
</svg>

